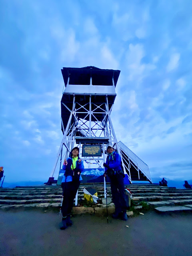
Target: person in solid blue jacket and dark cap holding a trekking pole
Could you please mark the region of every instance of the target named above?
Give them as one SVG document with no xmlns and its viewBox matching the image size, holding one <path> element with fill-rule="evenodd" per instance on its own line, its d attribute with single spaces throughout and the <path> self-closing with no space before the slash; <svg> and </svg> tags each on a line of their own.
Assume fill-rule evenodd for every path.
<svg viewBox="0 0 192 256">
<path fill-rule="evenodd" d="M 112 146 L 107 147 L 107 159 L 103 164 L 105 167 L 104 177 L 109 176 L 111 182 L 112 199 L 115 204 L 115 212 L 112 218 L 127 220 L 127 205 L 124 185 L 124 172 L 122 170 L 122 162 L 120 155 L 114 151 Z"/>
</svg>

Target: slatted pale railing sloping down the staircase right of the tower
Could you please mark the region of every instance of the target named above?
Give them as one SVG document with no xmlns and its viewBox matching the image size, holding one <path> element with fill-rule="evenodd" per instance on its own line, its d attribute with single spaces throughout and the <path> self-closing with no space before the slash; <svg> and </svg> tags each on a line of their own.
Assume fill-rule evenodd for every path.
<svg viewBox="0 0 192 256">
<path fill-rule="evenodd" d="M 150 172 L 149 172 L 149 167 L 148 165 L 143 162 L 134 152 L 132 152 L 125 144 L 123 144 L 121 141 L 118 142 L 118 145 L 120 148 L 127 154 L 127 156 L 132 160 L 132 162 L 138 166 L 140 171 L 152 182 Z"/>
</svg>

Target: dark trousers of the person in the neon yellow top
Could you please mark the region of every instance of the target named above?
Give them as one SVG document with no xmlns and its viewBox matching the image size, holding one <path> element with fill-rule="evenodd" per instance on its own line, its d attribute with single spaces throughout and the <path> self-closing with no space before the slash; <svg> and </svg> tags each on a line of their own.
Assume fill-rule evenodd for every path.
<svg viewBox="0 0 192 256">
<path fill-rule="evenodd" d="M 61 206 L 61 211 L 63 217 L 71 213 L 74 204 L 74 198 L 76 196 L 79 185 L 80 181 L 62 182 L 61 187 L 63 189 L 63 203 Z"/>
</svg>

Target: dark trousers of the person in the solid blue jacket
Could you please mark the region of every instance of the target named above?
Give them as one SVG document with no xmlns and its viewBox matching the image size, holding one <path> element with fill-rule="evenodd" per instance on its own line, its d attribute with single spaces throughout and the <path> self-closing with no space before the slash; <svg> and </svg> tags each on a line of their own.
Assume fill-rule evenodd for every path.
<svg viewBox="0 0 192 256">
<path fill-rule="evenodd" d="M 126 211 L 125 184 L 122 174 L 115 174 L 110 177 L 112 199 L 115 204 L 115 211 Z"/>
</svg>

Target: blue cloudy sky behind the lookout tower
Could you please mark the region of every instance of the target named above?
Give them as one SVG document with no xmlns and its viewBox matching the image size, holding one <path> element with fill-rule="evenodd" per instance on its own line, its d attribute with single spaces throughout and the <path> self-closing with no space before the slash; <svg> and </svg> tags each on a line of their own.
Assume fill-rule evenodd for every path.
<svg viewBox="0 0 192 256">
<path fill-rule="evenodd" d="M 152 177 L 192 179 L 190 0 L 0 1 L 0 166 L 47 181 L 62 139 L 61 68 L 121 70 L 116 136 Z"/>
</svg>

